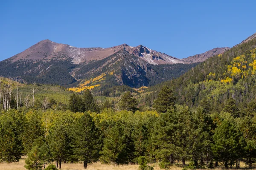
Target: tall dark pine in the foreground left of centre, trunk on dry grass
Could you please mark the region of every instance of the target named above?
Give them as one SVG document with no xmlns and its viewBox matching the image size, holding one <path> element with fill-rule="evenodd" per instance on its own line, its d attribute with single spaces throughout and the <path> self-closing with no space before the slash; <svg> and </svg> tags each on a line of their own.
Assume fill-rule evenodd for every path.
<svg viewBox="0 0 256 170">
<path fill-rule="evenodd" d="M 74 154 L 84 162 L 84 169 L 87 168 L 87 163 L 99 160 L 102 138 L 89 113 L 84 113 L 76 120 L 73 126 L 73 137 Z"/>
</svg>

